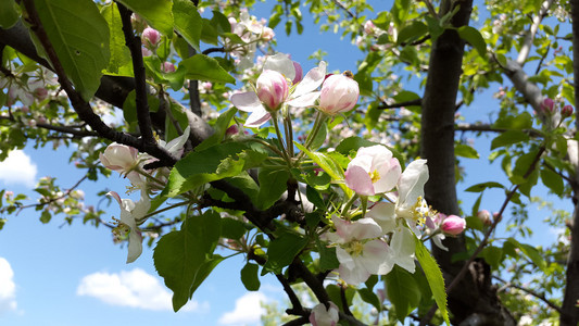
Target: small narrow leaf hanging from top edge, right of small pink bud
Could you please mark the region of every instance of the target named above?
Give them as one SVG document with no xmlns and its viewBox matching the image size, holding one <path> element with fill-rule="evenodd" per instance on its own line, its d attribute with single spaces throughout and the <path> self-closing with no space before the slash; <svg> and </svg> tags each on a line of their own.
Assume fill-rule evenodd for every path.
<svg viewBox="0 0 579 326">
<path fill-rule="evenodd" d="M 193 2 L 189 0 L 173 0 L 173 16 L 175 17 L 175 29 L 193 49 L 200 52 L 199 41 L 201 40 L 203 21 Z"/>
</svg>

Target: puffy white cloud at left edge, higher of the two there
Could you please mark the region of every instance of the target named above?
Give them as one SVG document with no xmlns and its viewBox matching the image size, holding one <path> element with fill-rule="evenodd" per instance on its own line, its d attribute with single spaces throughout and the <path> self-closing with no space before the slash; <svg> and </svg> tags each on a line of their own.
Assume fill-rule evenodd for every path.
<svg viewBox="0 0 579 326">
<path fill-rule="evenodd" d="M 20 184 L 34 187 L 36 184 L 36 164 L 30 161 L 30 156 L 24 151 L 15 150 L 8 154 L 8 158 L 0 162 L 0 180 L 5 184 Z"/>
</svg>

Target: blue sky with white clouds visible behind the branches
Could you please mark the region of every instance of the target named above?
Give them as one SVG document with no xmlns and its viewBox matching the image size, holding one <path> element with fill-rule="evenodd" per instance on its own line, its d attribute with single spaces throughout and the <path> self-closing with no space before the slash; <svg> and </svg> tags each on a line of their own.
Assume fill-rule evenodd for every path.
<svg viewBox="0 0 579 326">
<path fill-rule="evenodd" d="M 385 2 L 387 4 L 383 8 L 375 10 L 389 9 L 391 1 Z M 267 17 L 267 13 L 265 4 L 260 4 L 259 11 L 251 12 L 257 17 Z M 356 71 L 355 61 L 362 58 L 361 52 L 348 41 L 340 40 L 339 35 L 322 35 L 310 23 L 305 9 L 303 13 L 306 34 L 288 38 L 278 28 L 278 51 L 291 53 L 293 60 L 301 62 L 304 71 L 309 71 L 314 62 L 307 62 L 306 58 L 317 49 L 323 49 L 328 52 L 326 60 L 330 71 Z M 479 100 L 462 109 L 468 122 L 488 121 L 489 108 L 496 108 L 498 104 L 492 99 L 492 92 L 498 87 L 479 95 Z M 421 90 L 416 91 L 421 93 Z M 460 185 L 458 189 L 486 181 L 488 175 L 504 181 L 498 164 L 489 166 L 486 163 L 490 141 L 478 139 L 475 147 L 483 159 L 480 162 L 464 160 L 466 170 L 470 172 L 467 181 Z M 62 148 L 52 151 L 27 147 L 24 152 L 11 156 L 9 163 L 0 164 L 0 188 L 27 192 L 35 198 L 29 191 L 30 186 L 46 175 L 55 176 L 62 187 L 70 187 L 81 174 L 68 164 L 68 154 Z M 96 196 L 98 191 L 108 187 L 123 193 L 128 183 L 113 174 L 108 180 L 86 185 L 83 189 L 87 204 L 97 204 L 100 200 Z M 460 192 L 461 197 L 463 195 Z M 541 191 L 533 195 L 546 196 Z M 469 210 L 475 198 L 462 198 L 465 200 L 463 208 Z M 481 208 L 498 211 L 503 199 L 500 192 L 488 193 Z M 544 228 L 540 224 L 542 214 L 544 212 L 533 211 L 533 228 Z M 118 216 L 118 208 L 111 205 L 108 215 Z M 248 293 L 239 279 L 238 271 L 244 262 L 238 255 L 217 266 L 196 292 L 193 302 L 174 313 L 171 309 L 172 293 L 154 271 L 152 250 L 146 248 L 135 263 L 127 265 L 126 248 L 114 244 L 111 231 L 105 227 L 95 228 L 79 222 L 63 226 L 62 218 L 58 216 L 42 225 L 38 221 L 39 214 L 33 210 L 7 217 L 9 221 L 0 231 L 1 325 L 255 325 L 260 316 L 260 300 L 284 298 L 281 287 L 273 277 L 262 279 L 259 292 Z M 554 233 L 547 236 L 543 234 L 543 238 L 536 240 L 537 243 L 550 242 L 554 237 Z"/>
</svg>

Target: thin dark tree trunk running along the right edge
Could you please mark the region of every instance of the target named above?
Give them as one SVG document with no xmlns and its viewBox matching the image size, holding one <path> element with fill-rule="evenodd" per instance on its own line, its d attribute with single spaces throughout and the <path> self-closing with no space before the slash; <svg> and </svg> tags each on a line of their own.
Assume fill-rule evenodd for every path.
<svg viewBox="0 0 579 326">
<path fill-rule="evenodd" d="M 579 108 L 579 0 L 571 0 L 571 21 L 572 21 L 572 72 L 575 79 L 575 108 Z M 576 129 L 579 129 L 577 114 L 575 118 Z M 575 148 L 578 150 L 578 148 Z M 561 314 L 562 326 L 576 326 L 579 324 L 579 164 L 575 166 L 575 177 L 571 179 L 574 193 L 575 212 L 570 224 L 571 243 L 570 252 L 567 258 L 567 274 L 565 297 Z"/>
</svg>

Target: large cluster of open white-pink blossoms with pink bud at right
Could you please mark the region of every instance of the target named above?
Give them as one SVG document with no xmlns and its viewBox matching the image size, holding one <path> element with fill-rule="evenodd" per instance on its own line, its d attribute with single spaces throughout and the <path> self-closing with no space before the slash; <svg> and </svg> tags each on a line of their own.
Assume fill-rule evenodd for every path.
<svg viewBox="0 0 579 326">
<path fill-rule="evenodd" d="M 463 218 L 442 217 L 428 206 L 424 199 L 427 180 L 426 160 L 416 160 L 401 172 L 399 161 L 386 147 L 358 149 L 345 171 L 347 186 L 361 197 L 380 195 L 386 201 L 375 203 L 357 220 L 331 217 L 336 230 L 324 238 L 336 247 L 341 279 L 357 285 L 370 275 L 388 274 L 394 265 L 414 273 L 416 238 L 436 234 L 435 243 L 442 246 L 444 234 L 464 230 Z M 342 214 L 348 216 L 349 212 Z M 439 225 L 433 221 L 440 221 Z"/>
</svg>

